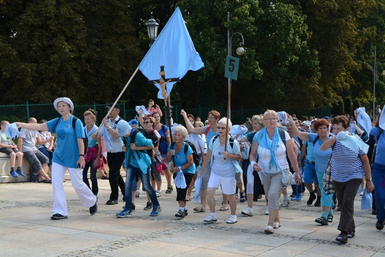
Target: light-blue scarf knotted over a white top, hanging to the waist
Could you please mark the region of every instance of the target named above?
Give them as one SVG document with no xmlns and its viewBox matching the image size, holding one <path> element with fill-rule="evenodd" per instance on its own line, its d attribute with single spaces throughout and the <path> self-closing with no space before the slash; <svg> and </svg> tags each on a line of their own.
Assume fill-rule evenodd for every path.
<svg viewBox="0 0 385 257">
<path fill-rule="evenodd" d="M 270 140 L 268 139 L 266 127 L 262 128 L 262 130 L 258 131 L 255 134 L 254 140 L 257 141 L 257 143 L 262 148 L 270 150 L 271 158 L 270 158 L 270 162 L 268 164 L 269 170 L 275 170 L 276 169 L 276 170 L 283 172 L 282 168 L 279 166 L 279 163 L 277 161 L 277 157 L 275 156 L 276 146 L 280 145 L 279 140 L 281 140 L 281 137 L 280 137 L 279 132 L 278 132 L 278 128 L 276 128 L 276 130 L 274 132 L 272 142 L 270 142 Z"/>
</svg>

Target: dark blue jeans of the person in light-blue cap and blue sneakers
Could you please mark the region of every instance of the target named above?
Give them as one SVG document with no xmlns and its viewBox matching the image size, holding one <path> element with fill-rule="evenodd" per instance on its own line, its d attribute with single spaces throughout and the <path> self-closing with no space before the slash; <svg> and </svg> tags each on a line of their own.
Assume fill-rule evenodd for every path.
<svg viewBox="0 0 385 257">
<path fill-rule="evenodd" d="M 137 168 L 133 167 L 131 164 L 127 164 L 127 176 L 126 176 L 126 184 L 124 186 L 125 189 L 125 197 L 126 197 L 126 209 L 131 210 L 132 206 L 132 179 L 138 174 L 138 177 L 142 180 L 142 189 L 146 191 L 150 196 L 151 203 L 153 206 L 159 206 L 159 201 L 155 190 L 151 186 L 150 179 L 150 167 L 147 168 L 147 173 L 143 174 L 143 172 Z"/>
</svg>

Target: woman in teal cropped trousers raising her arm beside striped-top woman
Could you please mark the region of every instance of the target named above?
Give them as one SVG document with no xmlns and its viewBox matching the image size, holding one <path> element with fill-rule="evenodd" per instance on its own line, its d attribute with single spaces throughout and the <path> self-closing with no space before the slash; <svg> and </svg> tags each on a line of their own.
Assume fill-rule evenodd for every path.
<svg viewBox="0 0 385 257">
<path fill-rule="evenodd" d="M 307 162 L 306 166 L 312 167 L 315 165 L 316 174 L 312 172 L 312 169 L 306 169 L 304 174 L 304 180 L 306 187 L 309 187 L 313 183 L 313 180 L 318 181 L 319 190 L 321 191 L 321 206 L 322 214 L 321 217 L 316 218 L 315 222 L 321 225 L 329 225 L 329 222 L 333 222 L 333 194 L 326 195 L 322 186 L 323 175 L 325 174 L 326 165 L 330 156 L 332 155 L 332 148 L 325 149 L 321 151 L 321 145 L 328 139 L 331 134 L 329 133 L 329 121 L 325 119 L 319 119 L 313 122 L 313 128 L 317 131 L 315 133 L 301 132 L 298 130 L 297 126 L 294 126 L 294 121 L 290 115 L 288 115 L 287 120 L 292 124 L 292 129 L 298 138 L 302 139 L 305 142 L 308 142 L 307 151 L 312 151 L 315 158 L 315 164 L 312 162 Z M 311 145 L 313 147 L 311 147 Z M 311 193 L 310 200 L 313 201 L 316 198 L 314 193 Z"/>
</svg>

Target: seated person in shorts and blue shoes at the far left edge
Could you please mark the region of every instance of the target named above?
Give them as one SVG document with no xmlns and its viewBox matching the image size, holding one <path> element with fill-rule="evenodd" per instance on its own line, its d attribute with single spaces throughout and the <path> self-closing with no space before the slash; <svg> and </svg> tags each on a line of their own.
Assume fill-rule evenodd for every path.
<svg viewBox="0 0 385 257">
<path fill-rule="evenodd" d="M 12 177 L 18 177 L 18 175 L 25 177 L 22 171 L 23 153 L 18 151 L 16 144 L 5 135 L 5 128 L 7 127 L 8 124 L 9 122 L 6 120 L 2 120 L 0 122 L 0 126 L 1 126 L 0 153 L 5 153 L 9 155 L 9 157 L 11 158 L 9 161 L 9 166 L 11 167 Z M 17 157 L 17 170 L 15 171 L 16 157 Z"/>
</svg>

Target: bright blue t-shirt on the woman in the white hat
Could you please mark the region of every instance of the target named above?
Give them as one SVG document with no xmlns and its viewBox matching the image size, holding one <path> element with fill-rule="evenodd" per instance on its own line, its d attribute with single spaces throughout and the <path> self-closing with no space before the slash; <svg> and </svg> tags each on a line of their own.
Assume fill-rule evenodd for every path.
<svg viewBox="0 0 385 257">
<path fill-rule="evenodd" d="M 56 149 L 53 152 L 52 162 L 59 163 L 61 166 L 67 168 L 77 168 L 76 162 L 79 160 L 79 146 L 78 138 L 85 138 L 84 128 L 80 119 L 76 120 L 75 131 L 72 128 L 73 115 L 63 121 L 63 118 L 56 118 L 47 121 L 48 130 L 56 133 Z M 59 120 L 59 123 L 56 122 Z"/>
</svg>

